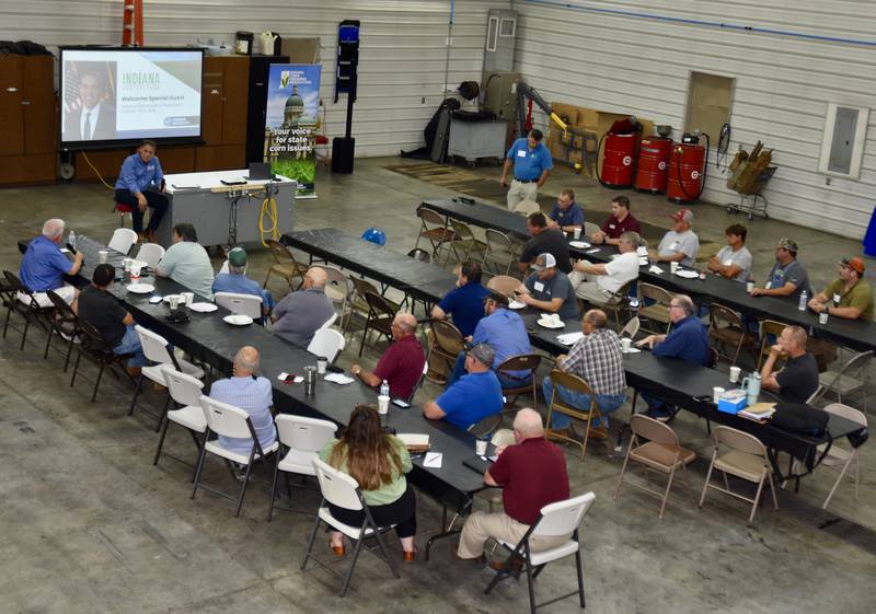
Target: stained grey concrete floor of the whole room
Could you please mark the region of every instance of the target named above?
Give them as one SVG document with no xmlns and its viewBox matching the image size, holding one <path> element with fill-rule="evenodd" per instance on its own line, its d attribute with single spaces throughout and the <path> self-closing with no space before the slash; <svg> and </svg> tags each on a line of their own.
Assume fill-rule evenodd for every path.
<svg viewBox="0 0 876 614">
<path fill-rule="evenodd" d="M 399 161 L 357 161 L 355 174 L 348 176 L 321 170 L 320 198 L 298 204 L 297 228 L 334 225 L 358 234 L 379 225 L 391 247 L 413 247 L 417 204 L 452 193 L 383 170 L 389 163 Z M 480 172 L 495 174 L 495 167 Z M 614 194 L 566 171 L 552 177 L 548 190 L 565 186 L 574 187 L 589 210 L 599 211 L 591 220 L 602 218 Z M 637 217 L 669 225 L 666 215 L 673 207 L 665 199 L 631 197 Z M 111 198 L 108 190 L 93 184 L 0 192 L 0 263 L 18 268 L 15 240 L 37 233 L 48 217 L 65 218 L 77 231 L 108 239 L 117 225 L 108 212 Z M 713 241 L 723 240 L 729 220 L 741 220 L 719 207 L 694 207 L 695 230 Z M 760 279 L 772 264 L 779 236 L 792 236 L 803 246 L 800 257 L 819 286 L 832 278 L 838 258 L 861 251 L 856 241 L 773 220 L 744 223 L 750 229 L 749 247 Z M 256 279 L 264 275 L 267 259 L 265 253 L 253 253 L 251 274 Z M 0 474 L 0 612 L 527 611 L 525 581 L 506 582 L 484 596 L 491 572 L 453 561 L 443 544 L 430 563 L 405 565 L 402 580 L 393 580 L 385 566 L 365 555 L 353 590 L 339 599 L 338 586 L 327 574 L 298 568 L 312 526 L 309 517 L 280 512 L 266 523 L 267 497 L 257 482 L 237 520 L 223 499 L 203 493 L 189 500 L 187 467 L 168 457 L 152 466 L 153 420 L 142 412 L 127 416 L 127 385 L 108 379 L 97 402 L 89 403 L 90 383 L 69 387 L 58 351 L 43 360 L 43 334 L 33 333 L 28 341 L 20 351 L 16 333 L 0 340 L 0 461 L 5 467 Z M 366 362 L 374 359 L 371 355 Z M 348 364 L 349 358 L 342 363 Z M 89 379 L 94 375 L 91 367 L 83 372 Z M 434 392 L 427 386 L 422 396 Z M 155 409 L 161 402 L 158 394 L 147 393 L 146 403 Z M 625 419 L 627 413 L 622 409 L 619 415 Z M 699 496 L 711 453 L 705 426 L 682 415 L 673 427 L 682 442 L 698 451 L 691 477 Z M 172 431 L 168 445 L 193 459 L 194 447 L 185 433 Z M 586 463 L 569 449 L 573 493 L 597 494 L 583 530 L 587 611 L 872 612 L 872 449 L 862 449 L 858 501 L 850 482 L 829 512 L 822 512 L 820 502 L 835 472 L 821 468 L 804 480 L 799 494 L 780 491 L 781 511 L 762 506 L 753 528 L 746 526 L 744 502 L 710 494 L 699 510 L 681 484 L 670 497 L 666 519 L 658 522 L 658 501 L 643 493 L 625 487 L 620 499 L 612 500 L 621 461 L 610 445 L 592 445 Z M 227 472 L 216 465 L 209 467 L 207 480 L 232 486 Z M 304 491 L 297 505 L 312 509 L 316 502 L 315 494 Z M 438 505 L 425 495 L 418 498 L 418 522 L 422 546 L 440 522 Z M 391 543 L 395 548 L 394 540 Z M 573 587 L 568 561 L 549 568 L 539 581 L 541 595 Z M 567 600 L 545 611 L 578 607 Z"/>
</svg>

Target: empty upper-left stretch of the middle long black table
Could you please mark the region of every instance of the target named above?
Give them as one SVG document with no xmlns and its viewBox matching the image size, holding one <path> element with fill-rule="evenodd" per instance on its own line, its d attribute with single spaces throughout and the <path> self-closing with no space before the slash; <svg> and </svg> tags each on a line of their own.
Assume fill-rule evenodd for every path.
<svg viewBox="0 0 876 614">
<path fill-rule="evenodd" d="M 438 303 L 457 282 L 456 275 L 438 266 L 415 260 L 335 228 L 289 232 L 280 241 L 427 303 Z"/>
</svg>

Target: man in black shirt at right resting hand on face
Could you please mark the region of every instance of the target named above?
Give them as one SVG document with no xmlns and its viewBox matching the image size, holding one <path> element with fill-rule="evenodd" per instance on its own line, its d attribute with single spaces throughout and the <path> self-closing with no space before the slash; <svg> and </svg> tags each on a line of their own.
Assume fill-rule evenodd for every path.
<svg viewBox="0 0 876 614">
<path fill-rule="evenodd" d="M 787 358 L 781 371 L 775 370 L 780 358 Z M 770 356 L 760 370 L 761 387 L 777 394 L 785 403 L 806 403 L 818 390 L 818 363 L 806 351 L 806 331 L 786 326 L 770 348 Z"/>
</svg>

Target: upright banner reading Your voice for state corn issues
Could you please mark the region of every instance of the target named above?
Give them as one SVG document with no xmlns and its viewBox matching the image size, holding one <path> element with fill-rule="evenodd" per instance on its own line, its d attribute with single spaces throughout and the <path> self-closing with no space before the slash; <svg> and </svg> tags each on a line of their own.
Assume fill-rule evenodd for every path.
<svg viewBox="0 0 876 614">
<path fill-rule="evenodd" d="M 298 196 L 315 193 L 320 69 L 319 65 L 270 65 L 265 162 L 275 174 L 298 182 Z"/>
</svg>

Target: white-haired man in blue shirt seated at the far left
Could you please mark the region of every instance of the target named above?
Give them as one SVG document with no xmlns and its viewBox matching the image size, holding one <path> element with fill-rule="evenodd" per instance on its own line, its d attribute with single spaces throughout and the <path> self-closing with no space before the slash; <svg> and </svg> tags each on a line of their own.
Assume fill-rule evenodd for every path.
<svg viewBox="0 0 876 614">
<path fill-rule="evenodd" d="M 31 241 L 21 260 L 19 278 L 34 293 L 39 306 L 50 308 L 53 305 L 46 290 L 54 290 L 56 294 L 67 301 L 67 304 L 72 303 L 76 299 L 76 288 L 66 285 L 64 276 L 79 273 L 82 267 L 82 252 L 78 252 L 71 263 L 58 247 L 62 242 L 64 220 L 47 220 L 43 224 L 43 233 Z M 25 294 L 20 294 L 19 300 L 30 301 Z"/>
</svg>

